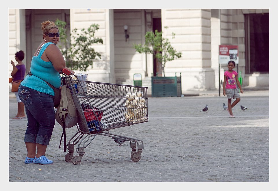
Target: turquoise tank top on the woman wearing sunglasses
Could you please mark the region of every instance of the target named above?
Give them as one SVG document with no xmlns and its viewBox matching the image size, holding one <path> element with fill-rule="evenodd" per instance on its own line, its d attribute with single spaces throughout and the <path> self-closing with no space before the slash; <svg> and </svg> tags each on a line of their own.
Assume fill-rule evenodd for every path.
<svg viewBox="0 0 278 191">
<path fill-rule="evenodd" d="M 45 81 L 47 81 L 54 87 L 59 88 L 61 86 L 61 76 L 59 72 L 55 70 L 53 64 L 50 61 L 46 62 L 40 58 L 49 44 L 54 43 L 47 42 L 43 44 L 38 51 L 38 54 L 36 56 L 33 56 L 30 71 L 34 75 L 27 75 L 21 82 L 21 85 L 40 91 L 42 93 L 54 95 L 53 89 L 49 87 L 49 85 L 47 85 Z M 36 76 L 38 76 L 39 78 Z M 45 81 L 43 81 L 42 79 Z"/>
</svg>

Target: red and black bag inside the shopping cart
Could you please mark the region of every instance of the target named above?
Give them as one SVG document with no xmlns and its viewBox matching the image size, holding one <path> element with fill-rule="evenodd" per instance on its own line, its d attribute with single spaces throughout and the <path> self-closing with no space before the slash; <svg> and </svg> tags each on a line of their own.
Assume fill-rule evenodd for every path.
<svg viewBox="0 0 278 191">
<path fill-rule="evenodd" d="M 82 103 L 81 106 L 82 106 L 84 116 L 85 116 L 85 119 L 87 122 L 94 121 L 94 120 L 101 121 L 103 111 L 101 111 L 100 109 L 98 109 L 94 106 L 90 106 L 85 103 Z"/>
</svg>

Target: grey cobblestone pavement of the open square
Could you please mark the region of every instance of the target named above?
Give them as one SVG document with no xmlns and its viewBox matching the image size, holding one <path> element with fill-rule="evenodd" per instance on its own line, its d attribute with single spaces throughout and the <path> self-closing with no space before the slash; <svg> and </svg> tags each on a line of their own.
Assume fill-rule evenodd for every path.
<svg viewBox="0 0 278 191">
<path fill-rule="evenodd" d="M 214 93 L 215 94 L 215 93 Z M 244 92 L 224 111 L 223 95 L 149 98 L 149 121 L 110 130 L 144 141 L 141 159 L 132 162 L 129 142 L 118 146 L 97 136 L 81 163 L 65 162 L 56 122 L 46 156 L 52 165 L 24 164 L 27 120 L 13 120 L 9 98 L 9 182 L 269 182 L 269 91 Z M 205 105 L 207 112 L 200 112 Z M 247 106 L 242 111 L 240 105 Z M 67 141 L 77 132 L 66 130 Z M 76 147 L 75 147 L 76 148 Z M 76 151 L 75 151 L 76 154 Z"/>
</svg>

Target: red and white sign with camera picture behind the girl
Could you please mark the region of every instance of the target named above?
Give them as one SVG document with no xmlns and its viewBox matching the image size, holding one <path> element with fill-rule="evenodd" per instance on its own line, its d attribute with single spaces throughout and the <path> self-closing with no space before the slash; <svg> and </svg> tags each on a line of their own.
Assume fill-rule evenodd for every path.
<svg viewBox="0 0 278 191">
<path fill-rule="evenodd" d="M 228 64 L 230 60 L 238 64 L 238 46 L 219 45 L 219 63 Z"/>
</svg>

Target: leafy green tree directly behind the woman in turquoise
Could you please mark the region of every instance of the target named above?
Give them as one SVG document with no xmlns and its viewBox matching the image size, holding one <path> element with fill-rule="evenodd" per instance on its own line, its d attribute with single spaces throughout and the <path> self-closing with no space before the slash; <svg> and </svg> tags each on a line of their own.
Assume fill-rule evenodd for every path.
<svg viewBox="0 0 278 191">
<path fill-rule="evenodd" d="M 60 48 L 68 68 L 86 71 L 89 66 L 93 66 L 93 61 L 101 58 L 101 54 L 92 48 L 93 44 L 103 44 L 102 38 L 94 37 L 95 32 L 99 29 L 98 24 L 92 24 L 88 29 L 83 28 L 80 32 L 73 29 L 70 45 L 68 45 L 66 38 L 66 22 L 57 19 L 55 24 L 59 28 L 60 41 L 62 42 Z"/>
</svg>

